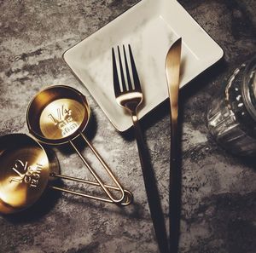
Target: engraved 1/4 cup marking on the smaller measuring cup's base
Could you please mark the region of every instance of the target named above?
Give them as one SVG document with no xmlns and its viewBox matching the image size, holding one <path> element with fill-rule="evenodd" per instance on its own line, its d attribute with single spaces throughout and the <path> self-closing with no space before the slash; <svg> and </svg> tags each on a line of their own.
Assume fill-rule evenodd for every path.
<svg viewBox="0 0 256 253">
<path fill-rule="evenodd" d="M 55 113 L 49 113 L 48 117 L 55 126 L 61 129 L 61 135 L 66 136 L 70 131 L 76 129 L 78 124 L 73 120 L 72 110 L 65 108 L 64 105 L 58 107 Z"/>
</svg>

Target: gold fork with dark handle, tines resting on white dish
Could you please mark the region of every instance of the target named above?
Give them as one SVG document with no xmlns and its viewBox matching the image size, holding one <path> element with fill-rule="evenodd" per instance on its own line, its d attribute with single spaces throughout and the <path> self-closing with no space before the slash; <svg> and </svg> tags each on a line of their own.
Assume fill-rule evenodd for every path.
<svg viewBox="0 0 256 253">
<path fill-rule="evenodd" d="M 125 53 L 125 46 L 123 45 L 123 55 L 125 58 L 125 73 L 121 60 L 120 50 L 118 47 L 119 58 L 119 74 L 114 54 L 112 49 L 113 60 L 113 88 L 117 103 L 119 106 L 124 107 L 131 113 L 132 123 L 135 129 L 135 135 L 137 139 L 137 148 L 139 152 L 140 162 L 143 170 L 144 185 L 148 197 L 148 205 L 151 213 L 151 218 L 154 225 L 154 232 L 159 245 L 161 253 L 168 252 L 168 242 L 166 235 L 166 226 L 163 212 L 160 205 L 160 197 L 157 190 L 154 170 L 150 164 L 148 150 L 143 140 L 142 131 L 138 122 L 137 108 L 143 101 L 143 92 L 140 84 L 140 80 L 137 75 L 137 69 L 131 52 L 131 46 L 128 45 L 129 56 L 131 61 L 131 73 L 130 75 L 128 60 Z M 120 82 L 119 82 L 120 76 Z M 126 76 L 126 78 L 125 78 Z M 133 82 L 131 78 L 133 77 Z M 133 85 L 132 85 L 133 83 Z"/>
</svg>

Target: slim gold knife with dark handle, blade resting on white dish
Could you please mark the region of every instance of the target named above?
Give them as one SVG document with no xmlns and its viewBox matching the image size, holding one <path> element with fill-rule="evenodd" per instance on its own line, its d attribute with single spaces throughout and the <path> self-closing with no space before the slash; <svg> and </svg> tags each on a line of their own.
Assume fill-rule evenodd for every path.
<svg viewBox="0 0 256 253">
<path fill-rule="evenodd" d="M 179 218 L 180 218 L 180 181 L 181 173 L 178 160 L 178 90 L 181 62 L 182 38 L 172 44 L 166 55 L 166 79 L 171 108 L 171 154 L 170 154 L 170 193 L 169 193 L 169 227 L 170 252 L 177 252 Z"/>
</svg>

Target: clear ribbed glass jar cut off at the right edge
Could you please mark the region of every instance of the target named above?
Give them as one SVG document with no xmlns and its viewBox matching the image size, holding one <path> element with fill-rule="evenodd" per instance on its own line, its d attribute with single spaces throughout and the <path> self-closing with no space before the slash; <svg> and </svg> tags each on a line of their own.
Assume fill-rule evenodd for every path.
<svg viewBox="0 0 256 253">
<path fill-rule="evenodd" d="M 207 109 L 207 128 L 225 149 L 256 154 L 256 55 L 235 70 Z"/>
</svg>

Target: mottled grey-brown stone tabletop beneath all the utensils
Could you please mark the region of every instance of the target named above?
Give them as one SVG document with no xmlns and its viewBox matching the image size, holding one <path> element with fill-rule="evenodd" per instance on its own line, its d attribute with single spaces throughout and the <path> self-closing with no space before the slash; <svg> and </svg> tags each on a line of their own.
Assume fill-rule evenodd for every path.
<svg viewBox="0 0 256 253">
<path fill-rule="evenodd" d="M 87 96 L 93 112 L 88 129 L 92 143 L 135 197 L 134 204 L 119 208 L 49 190 L 30 210 L 0 217 L 1 253 L 158 252 L 132 133 L 120 135 L 113 129 L 61 59 L 66 49 L 137 2 L 0 1 L 0 135 L 27 133 L 26 106 L 38 90 L 49 84 L 78 88 Z M 232 70 L 255 54 L 255 1 L 179 2 L 224 49 L 224 60 L 181 91 L 179 252 L 253 253 L 256 252 L 254 160 L 236 158 L 218 147 L 208 135 L 205 112 L 212 95 L 224 85 Z M 158 107 L 142 124 L 167 221 L 168 104 Z M 57 148 L 55 152 L 62 173 L 90 177 L 73 152 Z M 96 164 L 87 148 L 83 153 Z"/>
</svg>

